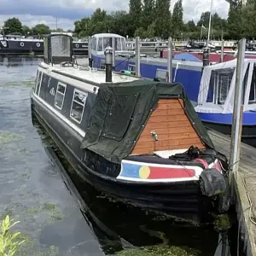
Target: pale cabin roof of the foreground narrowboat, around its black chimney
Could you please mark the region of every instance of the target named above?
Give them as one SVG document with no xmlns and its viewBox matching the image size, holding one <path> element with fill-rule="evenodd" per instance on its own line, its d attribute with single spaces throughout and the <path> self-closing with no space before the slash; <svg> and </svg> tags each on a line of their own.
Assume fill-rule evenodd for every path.
<svg viewBox="0 0 256 256">
<path fill-rule="evenodd" d="M 60 64 L 58 65 L 48 65 L 44 62 L 41 63 L 41 67 L 45 67 L 52 71 L 61 72 L 64 75 L 67 74 L 67 76 L 72 76 L 73 79 L 84 79 L 84 83 L 88 81 L 92 84 L 104 84 L 106 83 L 106 73 L 105 71 L 89 71 L 84 69 L 79 69 L 75 67 L 61 67 Z M 131 82 L 137 80 L 135 77 L 129 77 L 126 75 L 122 75 L 119 73 L 113 73 L 113 83 L 125 83 L 125 82 Z M 75 84 L 73 84 L 75 85 Z"/>
</svg>

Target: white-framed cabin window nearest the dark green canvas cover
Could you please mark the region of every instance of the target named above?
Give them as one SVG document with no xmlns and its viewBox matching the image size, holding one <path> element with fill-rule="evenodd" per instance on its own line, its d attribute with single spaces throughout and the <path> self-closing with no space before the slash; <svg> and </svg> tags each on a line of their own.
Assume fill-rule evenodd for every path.
<svg viewBox="0 0 256 256">
<path fill-rule="evenodd" d="M 70 117 L 79 124 L 82 121 L 84 113 L 84 105 L 87 99 L 88 93 L 75 89 L 73 91 L 73 102 L 70 111 Z"/>
</svg>

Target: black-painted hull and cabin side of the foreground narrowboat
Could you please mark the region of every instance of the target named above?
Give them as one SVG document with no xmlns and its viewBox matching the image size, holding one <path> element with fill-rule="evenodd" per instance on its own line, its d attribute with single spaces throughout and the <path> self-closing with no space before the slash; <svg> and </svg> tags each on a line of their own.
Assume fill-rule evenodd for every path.
<svg viewBox="0 0 256 256">
<path fill-rule="evenodd" d="M 65 76 L 62 81 L 65 83 Z M 49 93 L 51 88 L 56 90 L 58 80 L 43 74 L 41 90 L 39 96 L 55 108 L 55 96 Z M 67 119 L 78 125 L 80 129 L 88 124 L 90 110 L 96 99 L 96 94 L 88 93 L 84 108 L 84 117 L 81 124 L 70 119 L 69 113 L 73 100 L 73 90 L 71 84 L 67 84 L 66 97 L 62 109 L 55 108 Z M 85 86 L 84 86 L 85 90 Z M 32 116 L 44 126 L 49 135 L 61 148 L 67 159 L 73 161 L 73 166 L 86 182 L 92 184 L 96 189 L 117 197 L 122 201 L 129 201 L 133 205 L 144 207 L 157 212 L 164 212 L 178 218 L 189 218 L 195 221 L 206 221 L 209 217 L 207 212 L 211 212 L 212 204 L 210 200 L 201 195 L 199 184 L 196 181 L 178 183 L 138 183 L 118 180 L 120 166 L 93 152 L 81 149 L 83 137 L 72 127 L 67 125 L 55 113 L 39 102 L 32 94 Z"/>
</svg>

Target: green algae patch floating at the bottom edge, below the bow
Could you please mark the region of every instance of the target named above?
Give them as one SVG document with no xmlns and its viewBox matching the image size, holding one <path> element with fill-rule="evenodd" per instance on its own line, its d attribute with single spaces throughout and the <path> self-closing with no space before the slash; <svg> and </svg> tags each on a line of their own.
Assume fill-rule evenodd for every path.
<svg viewBox="0 0 256 256">
<path fill-rule="evenodd" d="M 123 250 L 115 253 L 116 256 L 197 256 L 198 254 L 192 250 L 184 250 L 180 247 L 170 246 L 150 246 L 150 247 L 139 247 L 136 249 Z"/>
</svg>

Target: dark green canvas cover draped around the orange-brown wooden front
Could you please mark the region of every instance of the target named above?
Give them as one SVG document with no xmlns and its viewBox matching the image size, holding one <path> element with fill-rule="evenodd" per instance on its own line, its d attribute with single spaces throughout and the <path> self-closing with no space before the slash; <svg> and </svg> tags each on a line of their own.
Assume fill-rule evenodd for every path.
<svg viewBox="0 0 256 256">
<path fill-rule="evenodd" d="M 120 163 L 131 153 L 160 97 L 182 98 L 185 113 L 195 123 L 196 132 L 208 147 L 214 148 L 182 84 L 144 79 L 101 84 L 81 148 Z"/>
</svg>

